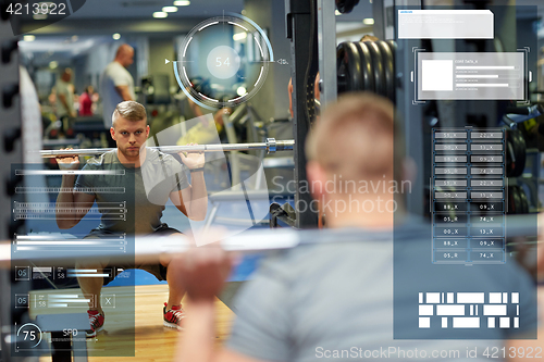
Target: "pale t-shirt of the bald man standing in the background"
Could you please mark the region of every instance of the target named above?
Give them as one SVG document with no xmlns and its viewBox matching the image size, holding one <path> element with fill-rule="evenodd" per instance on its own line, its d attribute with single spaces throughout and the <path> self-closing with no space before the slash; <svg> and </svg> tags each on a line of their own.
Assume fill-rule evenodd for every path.
<svg viewBox="0 0 544 362">
<path fill-rule="evenodd" d="M 115 107 L 123 101 L 115 87 L 128 86 L 128 92 L 133 100 L 136 100 L 134 93 L 134 79 L 128 71 L 118 62 L 111 62 L 102 72 L 100 77 L 100 96 L 103 107 L 103 123 L 106 128 L 111 127 L 111 116 Z"/>
</svg>

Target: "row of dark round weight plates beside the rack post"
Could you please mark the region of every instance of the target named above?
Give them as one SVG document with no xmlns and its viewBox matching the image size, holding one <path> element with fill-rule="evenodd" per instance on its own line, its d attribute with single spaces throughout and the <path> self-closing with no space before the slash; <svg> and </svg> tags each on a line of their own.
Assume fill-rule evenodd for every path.
<svg viewBox="0 0 544 362">
<path fill-rule="evenodd" d="M 338 95 L 372 91 L 395 102 L 395 50 L 393 40 L 341 42 L 336 48 Z"/>
</svg>

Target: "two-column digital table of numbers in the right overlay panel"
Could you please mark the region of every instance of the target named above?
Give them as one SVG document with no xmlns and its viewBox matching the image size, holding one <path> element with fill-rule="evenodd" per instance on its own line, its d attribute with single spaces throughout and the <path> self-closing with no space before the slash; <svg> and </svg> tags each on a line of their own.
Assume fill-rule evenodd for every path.
<svg viewBox="0 0 544 362">
<path fill-rule="evenodd" d="M 433 263 L 506 261 L 505 130 L 433 129 Z"/>
</svg>

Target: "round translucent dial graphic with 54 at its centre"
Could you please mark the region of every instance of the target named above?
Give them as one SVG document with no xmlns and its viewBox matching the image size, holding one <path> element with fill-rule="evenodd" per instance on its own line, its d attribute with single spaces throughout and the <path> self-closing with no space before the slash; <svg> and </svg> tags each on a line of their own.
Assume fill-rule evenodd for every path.
<svg viewBox="0 0 544 362">
<path fill-rule="evenodd" d="M 254 97 L 273 58 L 270 40 L 255 22 L 226 14 L 206 20 L 187 34 L 174 73 L 187 97 L 215 110 Z"/>
</svg>

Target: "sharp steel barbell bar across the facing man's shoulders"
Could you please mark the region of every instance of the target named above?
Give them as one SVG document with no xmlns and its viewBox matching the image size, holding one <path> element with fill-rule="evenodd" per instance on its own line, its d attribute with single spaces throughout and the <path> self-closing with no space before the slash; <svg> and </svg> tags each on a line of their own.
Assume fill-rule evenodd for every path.
<svg viewBox="0 0 544 362">
<path fill-rule="evenodd" d="M 265 142 L 254 143 L 218 143 L 218 145 L 196 145 L 196 146 L 160 146 L 150 147 L 164 153 L 180 152 L 224 152 L 224 151 L 255 151 L 265 150 L 267 153 L 275 153 L 276 151 L 290 151 L 295 146 L 295 140 L 276 140 L 275 138 L 267 138 Z M 41 150 L 39 151 L 42 158 L 57 158 L 63 155 L 94 155 L 101 154 L 115 148 L 86 148 L 75 150 Z"/>
</svg>

